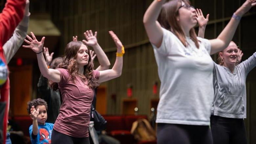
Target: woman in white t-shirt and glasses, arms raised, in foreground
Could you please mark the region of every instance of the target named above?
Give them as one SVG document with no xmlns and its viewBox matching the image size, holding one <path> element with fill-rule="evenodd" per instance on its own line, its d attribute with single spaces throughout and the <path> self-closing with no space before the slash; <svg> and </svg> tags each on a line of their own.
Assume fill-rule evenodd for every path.
<svg viewBox="0 0 256 144">
<path fill-rule="evenodd" d="M 255 0 L 245 1 L 212 40 L 196 36 L 196 10 L 188 0 L 165 2 L 154 0 L 143 18 L 161 81 L 156 120 L 158 144 L 211 144 L 214 92 L 210 54 L 228 46 L 241 16 L 255 5 Z"/>
</svg>

